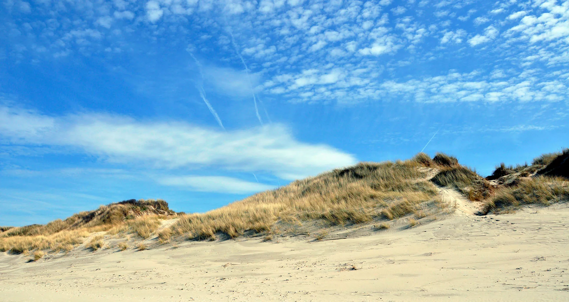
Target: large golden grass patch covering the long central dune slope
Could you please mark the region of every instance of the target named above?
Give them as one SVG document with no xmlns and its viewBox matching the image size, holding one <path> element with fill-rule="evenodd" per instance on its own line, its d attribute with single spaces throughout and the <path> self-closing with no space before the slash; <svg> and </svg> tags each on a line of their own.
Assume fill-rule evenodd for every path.
<svg viewBox="0 0 569 302">
<path fill-rule="evenodd" d="M 424 176 L 417 160 L 360 163 L 315 177 L 293 181 L 203 214 L 187 214 L 170 229 L 189 239 L 231 238 L 248 231 L 275 232 L 275 225 L 294 228 L 297 221 L 324 225 L 352 225 L 392 220 L 414 213 L 420 204 L 434 201 L 436 188 Z M 301 223 L 302 224 L 302 223 Z"/>
</svg>

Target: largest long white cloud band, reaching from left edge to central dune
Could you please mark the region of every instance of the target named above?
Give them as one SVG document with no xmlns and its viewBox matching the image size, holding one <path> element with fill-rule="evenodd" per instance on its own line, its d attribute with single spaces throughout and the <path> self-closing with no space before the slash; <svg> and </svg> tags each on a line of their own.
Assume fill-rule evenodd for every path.
<svg viewBox="0 0 569 302">
<path fill-rule="evenodd" d="M 106 114 L 50 118 L 10 107 L 0 107 L 0 114 L 0 138 L 83 150 L 116 163 L 263 171 L 292 180 L 356 162 L 353 156 L 324 144 L 299 142 L 282 125 L 225 132 Z"/>
</svg>

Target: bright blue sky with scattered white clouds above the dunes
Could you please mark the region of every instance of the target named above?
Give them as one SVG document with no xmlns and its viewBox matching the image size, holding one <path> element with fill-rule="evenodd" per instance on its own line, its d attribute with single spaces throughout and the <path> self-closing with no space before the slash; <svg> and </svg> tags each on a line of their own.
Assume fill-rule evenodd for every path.
<svg viewBox="0 0 569 302">
<path fill-rule="evenodd" d="M 2 0 L 0 225 L 569 147 L 569 1 Z"/>
</svg>

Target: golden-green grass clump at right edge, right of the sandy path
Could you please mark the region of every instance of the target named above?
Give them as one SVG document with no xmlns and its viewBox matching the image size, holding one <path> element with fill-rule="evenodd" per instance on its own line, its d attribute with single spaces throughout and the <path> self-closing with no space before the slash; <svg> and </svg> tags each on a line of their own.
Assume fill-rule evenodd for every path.
<svg viewBox="0 0 569 302">
<path fill-rule="evenodd" d="M 485 213 L 515 210 L 522 205 L 551 205 L 569 201 L 569 182 L 562 177 L 537 176 L 513 187 L 500 188 L 484 205 Z"/>
</svg>

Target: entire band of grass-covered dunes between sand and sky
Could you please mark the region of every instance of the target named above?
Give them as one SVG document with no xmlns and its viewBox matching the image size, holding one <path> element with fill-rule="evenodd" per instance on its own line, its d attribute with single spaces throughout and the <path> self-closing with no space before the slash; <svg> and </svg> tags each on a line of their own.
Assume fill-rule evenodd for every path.
<svg viewBox="0 0 569 302">
<path fill-rule="evenodd" d="M 522 205 L 569 200 L 569 176 L 562 174 L 568 164 L 569 149 L 565 149 L 543 154 L 531 165 L 502 163 L 484 178 L 453 156 L 438 153 L 431 158 L 419 153 L 405 161 L 334 169 L 206 213 L 176 213 L 163 200 L 127 200 L 46 225 L 0 227 L 0 251 L 39 260 L 80 245 L 92 251 L 146 250 L 150 237 L 161 244 L 242 236 L 271 241 L 305 235 L 321 240 L 327 229 L 339 226 L 373 224 L 380 231 L 405 218 L 413 227 L 453 211 L 437 186 L 456 189 L 479 202 L 483 214 L 509 213 Z M 115 243 L 110 245 L 109 239 Z"/>
</svg>

